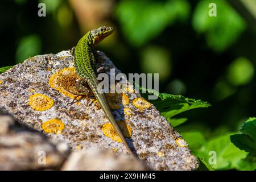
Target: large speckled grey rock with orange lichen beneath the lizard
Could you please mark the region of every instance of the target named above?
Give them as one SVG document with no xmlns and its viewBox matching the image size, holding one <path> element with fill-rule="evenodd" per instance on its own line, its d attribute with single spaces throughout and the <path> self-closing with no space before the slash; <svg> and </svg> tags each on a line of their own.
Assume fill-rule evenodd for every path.
<svg viewBox="0 0 256 182">
<path fill-rule="evenodd" d="M 110 68 L 115 68 L 112 61 L 99 53 L 102 59 L 98 67 L 104 66 L 110 74 Z M 69 51 L 35 56 L 15 65 L 0 75 L 0 109 L 48 137 L 68 143 L 73 151 L 94 147 L 126 153 L 93 97 L 68 105 L 75 98 L 71 91 L 75 92 L 77 76 L 72 67 Z M 119 73 L 116 68 L 115 72 Z M 114 97 L 113 114 L 126 133 L 131 131 L 127 142 L 138 157 L 156 170 L 196 169 L 197 160 L 187 143 L 155 106 L 133 88 L 123 90 L 123 94 L 125 97 Z M 121 100 L 121 105 L 116 100 Z"/>
</svg>

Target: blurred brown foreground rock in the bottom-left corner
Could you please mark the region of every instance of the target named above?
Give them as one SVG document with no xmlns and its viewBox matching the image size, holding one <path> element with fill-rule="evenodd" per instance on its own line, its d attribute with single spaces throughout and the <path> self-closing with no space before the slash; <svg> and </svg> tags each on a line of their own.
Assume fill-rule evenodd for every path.
<svg viewBox="0 0 256 182">
<path fill-rule="evenodd" d="M 69 152 L 60 145 L 0 111 L 0 170 L 60 169 Z"/>
</svg>

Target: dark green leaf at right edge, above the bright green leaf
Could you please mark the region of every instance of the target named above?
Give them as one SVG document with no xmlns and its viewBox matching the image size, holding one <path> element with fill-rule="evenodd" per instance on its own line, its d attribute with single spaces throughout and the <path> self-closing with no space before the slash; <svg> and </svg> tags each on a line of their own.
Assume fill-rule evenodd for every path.
<svg viewBox="0 0 256 182">
<path fill-rule="evenodd" d="M 231 142 L 234 143 L 238 148 L 249 152 L 250 154 L 256 155 L 256 142 L 245 134 L 236 134 L 230 136 Z"/>
</svg>

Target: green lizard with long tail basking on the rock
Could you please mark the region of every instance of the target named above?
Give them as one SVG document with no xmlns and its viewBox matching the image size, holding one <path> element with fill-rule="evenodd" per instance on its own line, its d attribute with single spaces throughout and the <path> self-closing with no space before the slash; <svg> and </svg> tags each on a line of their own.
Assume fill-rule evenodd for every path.
<svg viewBox="0 0 256 182">
<path fill-rule="evenodd" d="M 76 90 L 78 92 L 76 95 L 88 97 L 88 95 L 92 93 L 94 94 L 101 108 L 104 110 L 104 113 L 112 123 L 115 132 L 125 144 L 127 151 L 129 151 L 129 153 L 135 157 L 113 117 L 105 94 L 103 92 L 98 92 L 98 80 L 96 77 L 96 61 L 98 59 L 98 53 L 94 50 L 94 46 L 106 38 L 106 36 L 112 34 L 112 32 L 112 27 L 100 27 L 98 29 L 89 31 L 79 40 L 77 46 L 75 47 L 75 51 L 72 51 L 75 57 L 76 73 L 81 78 L 76 83 Z M 91 90 L 86 87 L 88 85 Z"/>
</svg>

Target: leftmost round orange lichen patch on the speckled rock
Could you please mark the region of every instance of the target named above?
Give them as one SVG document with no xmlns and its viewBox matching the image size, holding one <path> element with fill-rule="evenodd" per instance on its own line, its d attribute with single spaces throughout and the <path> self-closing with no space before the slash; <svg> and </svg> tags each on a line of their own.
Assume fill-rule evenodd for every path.
<svg viewBox="0 0 256 182">
<path fill-rule="evenodd" d="M 53 100 L 44 94 L 35 93 L 34 95 L 30 96 L 28 104 L 34 110 L 44 111 L 52 107 Z"/>
</svg>

